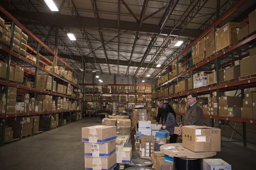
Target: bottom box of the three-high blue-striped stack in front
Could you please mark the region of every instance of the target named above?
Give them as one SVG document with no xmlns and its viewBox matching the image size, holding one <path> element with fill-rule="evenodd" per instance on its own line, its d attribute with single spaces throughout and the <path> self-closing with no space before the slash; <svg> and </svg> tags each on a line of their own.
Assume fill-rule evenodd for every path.
<svg viewBox="0 0 256 170">
<path fill-rule="evenodd" d="M 85 157 L 85 170 L 112 170 L 116 166 L 116 154 L 108 158 Z"/>
</svg>

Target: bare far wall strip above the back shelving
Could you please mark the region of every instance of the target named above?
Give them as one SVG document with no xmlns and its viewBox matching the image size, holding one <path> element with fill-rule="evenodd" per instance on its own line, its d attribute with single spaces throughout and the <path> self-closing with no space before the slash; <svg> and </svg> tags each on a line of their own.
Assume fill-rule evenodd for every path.
<svg viewBox="0 0 256 170">
<path fill-rule="evenodd" d="M 96 78 L 95 76 L 99 76 L 99 78 Z M 129 77 L 128 79 L 127 76 L 86 73 L 85 77 L 85 83 L 99 84 L 99 79 L 101 79 L 103 84 L 135 84 L 133 78 Z M 145 80 L 145 82 L 142 83 L 142 80 Z M 148 78 L 136 78 L 136 84 L 151 84 L 151 80 Z"/>
</svg>

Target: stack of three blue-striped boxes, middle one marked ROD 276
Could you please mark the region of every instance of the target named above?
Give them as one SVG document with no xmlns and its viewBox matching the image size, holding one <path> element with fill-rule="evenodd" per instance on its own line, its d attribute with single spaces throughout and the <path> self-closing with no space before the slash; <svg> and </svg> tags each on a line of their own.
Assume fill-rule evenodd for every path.
<svg viewBox="0 0 256 170">
<path fill-rule="evenodd" d="M 116 166 L 116 126 L 89 126 L 82 128 L 85 142 L 85 169 L 107 169 Z"/>
</svg>

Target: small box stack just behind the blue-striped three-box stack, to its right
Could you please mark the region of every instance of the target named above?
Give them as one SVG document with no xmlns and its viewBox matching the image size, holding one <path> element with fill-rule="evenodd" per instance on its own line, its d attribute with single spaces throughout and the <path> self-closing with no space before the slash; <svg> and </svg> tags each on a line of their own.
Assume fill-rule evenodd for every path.
<svg viewBox="0 0 256 170">
<path fill-rule="evenodd" d="M 130 119 L 117 119 L 116 133 L 117 135 L 129 135 L 131 134 L 132 121 Z"/>
</svg>

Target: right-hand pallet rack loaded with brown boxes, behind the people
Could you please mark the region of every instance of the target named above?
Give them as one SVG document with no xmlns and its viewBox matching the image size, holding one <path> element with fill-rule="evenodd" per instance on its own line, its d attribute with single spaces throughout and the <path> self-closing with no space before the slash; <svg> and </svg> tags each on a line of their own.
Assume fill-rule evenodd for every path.
<svg viewBox="0 0 256 170">
<path fill-rule="evenodd" d="M 186 95 L 196 92 L 204 109 L 204 118 L 210 118 L 211 126 L 217 123 L 221 127 L 221 120 L 242 122 L 246 146 L 246 123 L 256 123 L 254 92 L 249 89 L 256 87 L 253 64 L 256 58 L 256 12 L 254 10 L 242 23 L 229 22 L 217 30 L 215 26 L 229 14 L 232 11 L 219 18 L 164 67 L 171 66 L 153 81 L 152 98 L 154 101 L 172 99 L 173 108 L 182 119 L 186 113 Z M 192 58 L 181 62 L 184 61 L 181 55 L 190 47 Z M 234 90 L 235 96 L 225 96 Z M 237 90 L 241 90 L 240 97 Z"/>
</svg>

